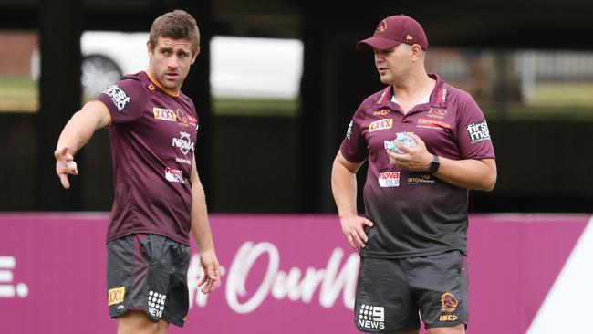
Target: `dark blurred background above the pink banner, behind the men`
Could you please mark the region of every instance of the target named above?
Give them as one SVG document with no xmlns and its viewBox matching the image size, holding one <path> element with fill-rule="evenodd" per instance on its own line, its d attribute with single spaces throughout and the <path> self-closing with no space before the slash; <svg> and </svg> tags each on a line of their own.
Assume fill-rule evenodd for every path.
<svg viewBox="0 0 593 334">
<path fill-rule="evenodd" d="M 107 131 L 80 152 L 68 192 L 54 172 L 57 137 L 84 101 L 146 68 L 151 21 L 184 8 L 202 33 L 182 90 L 201 119 L 212 212 L 335 212 L 333 158 L 359 103 L 381 89 L 372 54 L 355 45 L 401 13 L 427 32 L 427 68 L 470 91 L 488 120 L 498 183 L 471 192 L 470 210 L 591 212 L 592 4 L 564 1 L 562 14 L 527 0 L 321 5 L 0 0 L 0 210 L 109 210 Z"/>
</svg>

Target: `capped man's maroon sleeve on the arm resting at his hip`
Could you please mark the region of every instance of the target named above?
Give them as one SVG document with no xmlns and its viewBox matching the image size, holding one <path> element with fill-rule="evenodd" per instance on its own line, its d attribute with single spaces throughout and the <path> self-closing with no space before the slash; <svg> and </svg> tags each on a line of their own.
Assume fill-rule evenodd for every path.
<svg viewBox="0 0 593 334">
<path fill-rule="evenodd" d="M 367 140 L 364 137 L 363 125 L 364 109 L 362 106 L 356 110 L 354 117 L 350 120 L 346 137 L 342 141 L 339 150 L 349 162 L 364 162 L 369 155 Z"/>
</svg>

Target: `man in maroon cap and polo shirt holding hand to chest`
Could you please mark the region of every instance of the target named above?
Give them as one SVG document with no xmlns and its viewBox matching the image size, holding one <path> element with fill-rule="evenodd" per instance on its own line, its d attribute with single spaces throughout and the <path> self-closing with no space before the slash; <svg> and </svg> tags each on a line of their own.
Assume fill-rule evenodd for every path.
<svg viewBox="0 0 593 334">
<path fill-rule="evenodd" d="M 332 169 L 342 232 L 361 256 L 354 322 L 366 332 L 418 333 L 422 320 L 430 334 L 464 333 L 468 190 L 496 182 L 484 114 L 426 73 L 428 40 L 410 16 L 381 20 L 357 47 L 373 50 L 387 86 L 356 110 Z M 416 145 L 393 141 L 397 133 Z M 386 150 L 390 141 L 402 153 Z M 356 172 L 367 160 L 363 218 Z"/>
</svg>

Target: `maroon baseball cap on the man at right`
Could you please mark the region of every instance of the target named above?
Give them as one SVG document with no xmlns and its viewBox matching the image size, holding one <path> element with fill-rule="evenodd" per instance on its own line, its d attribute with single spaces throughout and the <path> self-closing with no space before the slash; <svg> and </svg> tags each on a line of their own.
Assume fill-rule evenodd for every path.
<svg viewBox="0 0 593 334">
<path fill-rule="evenodd" d="M 386 50 L 401 43 L 418 44 L 423 50 L 428 47 L 428 39 L 418 21 L 410 16 L 389 16 L 379 23 L 373 37 L 359 41 L 356 47 L 366 50 L 371 47 Z"/>
</svg>

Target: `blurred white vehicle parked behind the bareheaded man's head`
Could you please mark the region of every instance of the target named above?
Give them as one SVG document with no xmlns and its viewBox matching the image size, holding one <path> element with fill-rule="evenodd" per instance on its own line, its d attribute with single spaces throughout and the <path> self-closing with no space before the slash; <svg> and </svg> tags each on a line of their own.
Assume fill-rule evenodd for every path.
<svg viewBox="0 0 593 334">
<path fill-rule="evenodd" d="M 146 69 L 148 38 L 148 33 L 84 32 L 80 48 L 85 95 L 95 96 L 124 74 Z M 300 40 L 219 36 L 211 39 L 210 47 L 213 98 L 298 97 L 303 71 Z M 33 78 L 39 78 L 39 64 L 35 52 L 31 62 Z"/>
</svg>

